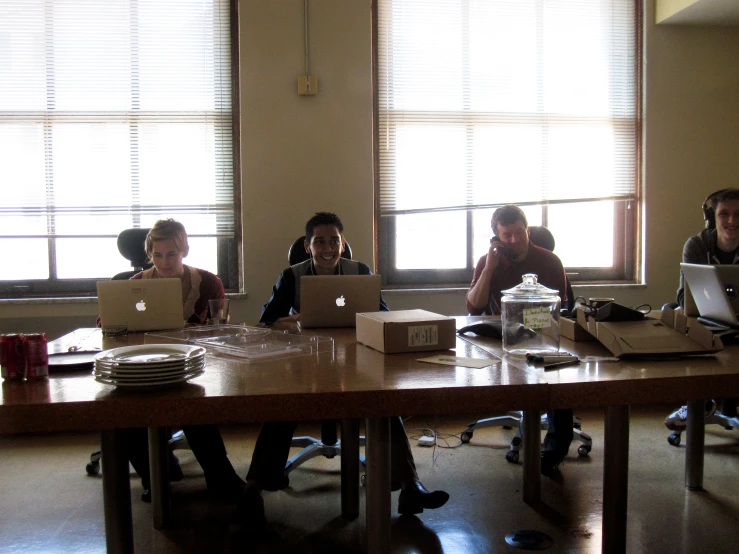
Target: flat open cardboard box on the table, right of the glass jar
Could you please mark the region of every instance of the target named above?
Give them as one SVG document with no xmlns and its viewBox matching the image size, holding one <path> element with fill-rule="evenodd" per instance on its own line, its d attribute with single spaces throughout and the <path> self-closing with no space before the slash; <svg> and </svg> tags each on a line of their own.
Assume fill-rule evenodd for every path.
<svg viewBox="0 0 739 554">
<path fill-rule="evenodd" d="M 601 321 L 595 323 L 595 329 L 598 341 L 618 358 L 708 354 L 723 349 L 721 339 L 696 319 L 687 318 L 687 321 L 682 320 L 679 323 L 687 324 L 684 328 L 686 330 L 675 329 L 674 312 L 665 310 L 660 319 Z"/>
</svg>

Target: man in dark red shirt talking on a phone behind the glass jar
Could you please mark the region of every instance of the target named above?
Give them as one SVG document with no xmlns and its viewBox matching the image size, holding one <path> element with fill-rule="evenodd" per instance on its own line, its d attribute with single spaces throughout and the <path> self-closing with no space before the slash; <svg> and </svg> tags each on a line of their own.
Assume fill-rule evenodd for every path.
<svg viewBox="0 0 739 554">
<path fill-rule="evenodd" d="M 526 214 L 518 206 L 502 206 L 490 222 L 495 235 L 490 250 L 480 258 L 467 293 L 470 315 L 500 314 L 502 291 L 521 284 L 526 273 L 538 275 L 538 282 L 559 291 L 567 302 L 567 276 L 559 258 L 529 240 Z M 547 411 L 549 429 L 541 453 L 541 472 L 552 475 L 567 455 L 572 442 L 572 410 Z"/>
</svg>

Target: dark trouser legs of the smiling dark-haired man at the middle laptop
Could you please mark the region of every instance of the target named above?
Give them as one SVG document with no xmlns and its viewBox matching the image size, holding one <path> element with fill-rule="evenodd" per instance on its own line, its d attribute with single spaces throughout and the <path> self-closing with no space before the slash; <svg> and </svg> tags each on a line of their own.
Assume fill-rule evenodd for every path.
<svg viewBox="0 0 739 554">
<path fill-rule="evenodd" d="M 285 464 L 297 426 L 295 421 L 271 421 L 262 425 L 246 474 L 247 481 L 256 481 L 267 491 L 285 486 Z M 391 482 L 403 485 L 418 480 L 411 445 L 400 417 L 390 418 L 390 457 Z"/>
</svg>

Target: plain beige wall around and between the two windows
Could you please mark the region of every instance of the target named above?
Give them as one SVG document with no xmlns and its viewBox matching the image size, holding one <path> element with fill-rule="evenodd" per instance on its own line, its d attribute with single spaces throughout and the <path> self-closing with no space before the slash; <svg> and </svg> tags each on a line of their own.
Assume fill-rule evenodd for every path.
<svg viewBox="0 0 739 554">
<path fill-rule="evenodd" d="M 355 258 L 372 256 L 370 0 L 311 0 L 311 73 L 319 94 L 299 97 L 302 0 L 242 0 L 241 101 L 244 279 L 234 319 L 253 322 L 287 247 L 317 210 L 339 213 Z M 576 288 L 655 307 L 672 300 L 685 239 L 702 226 L 711 191 L 739 184 L 739 27 L 655 26 L 648 0 L 645 63 L 645 281 Z M 587 220 L 583 224 L 587 225 Z M 393 309 L 463 313 L 464 292 L 386 294 Z M 0 332 L 52 336 L 94 323 L 95 304 L 0 303 Z M 74 315 L 71 315 L 74 314 Z M 23 328 L 21 328 L 23 327 Z"/>
</svg>

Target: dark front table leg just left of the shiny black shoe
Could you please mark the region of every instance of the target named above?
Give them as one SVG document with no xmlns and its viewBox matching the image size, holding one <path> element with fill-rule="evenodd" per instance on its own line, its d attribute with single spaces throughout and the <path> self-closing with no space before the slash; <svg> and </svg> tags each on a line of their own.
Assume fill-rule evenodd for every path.
<svg viewBox="0 0 739 554">
<path fill-rule="evenodd" d="M 368 419 L 367 552 L 390 552 L 390 419 Z"/>
</svg>

